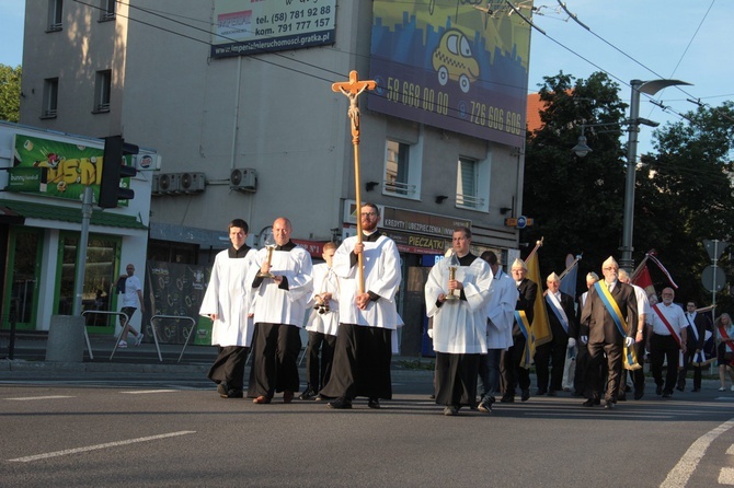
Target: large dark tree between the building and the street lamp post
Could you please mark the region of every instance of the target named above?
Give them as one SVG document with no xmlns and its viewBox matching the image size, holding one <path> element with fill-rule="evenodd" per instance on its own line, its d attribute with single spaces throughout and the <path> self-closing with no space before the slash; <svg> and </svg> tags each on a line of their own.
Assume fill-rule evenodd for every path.
<svg viewBox="0 0 734 488">
<path fill-rule="evenodd" d="M 617 256 L 624 200 L 624 152 L 620 143 L 626 104 L 619 86 L 605 73 L 575 80 L 562 72 L 544 78 L 540 100 L 543 127 L 529 135 L 526 146 L 524 213 L 534 225 L 520 241 L 543 237 L 541 275 L 559 275 L 567 254 L 583 253 L 580 281 L 600 272 L 609 255 Z M 594 152 L 585 158 L 572 151 L 582 133 Z M 598 126 L 601 125 L 601 126 Z"/>
</svg>

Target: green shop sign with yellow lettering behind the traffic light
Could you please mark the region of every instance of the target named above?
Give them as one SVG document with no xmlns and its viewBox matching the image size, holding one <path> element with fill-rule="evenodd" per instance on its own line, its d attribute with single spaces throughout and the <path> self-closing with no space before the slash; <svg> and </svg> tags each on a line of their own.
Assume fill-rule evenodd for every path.
<svg viewBox="0 0 734 488">
<path fill-rule="evenodd" d="M 16 135 L 5 190 L 80 201 L 91 186 L 99 201 L 103 156 L 102 148 Z M 125 164 L 133 164 L 131 156 L 125 156 Z M 130 178 L 122 182 L 129 188 Z"/>
</svg>

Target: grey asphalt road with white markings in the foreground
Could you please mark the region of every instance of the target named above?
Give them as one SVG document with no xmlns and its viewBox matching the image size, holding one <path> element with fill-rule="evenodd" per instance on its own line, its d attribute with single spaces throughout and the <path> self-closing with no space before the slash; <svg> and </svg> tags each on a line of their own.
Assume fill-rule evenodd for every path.
<svg viewBox="0 0 734 488">
<path fill-rule="evenodd" d="M 0 486 L 734 484 L 734 392 L 711 380 L 611 411 L 561 394 L 445 417 L 429 371 L 395 369 L 379 410 L 336 411 L 219 398 L 203 365 L 146 368 L 0 368 Z"/>
</svg>

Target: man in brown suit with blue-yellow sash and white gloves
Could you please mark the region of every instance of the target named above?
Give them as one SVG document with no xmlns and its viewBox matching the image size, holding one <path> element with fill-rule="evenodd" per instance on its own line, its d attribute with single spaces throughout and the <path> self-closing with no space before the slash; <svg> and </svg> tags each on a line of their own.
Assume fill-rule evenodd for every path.
<svg viewBox="0 0 734 488">
<path fill-rule="evenodd" d="M 634 289 L 617 279 L 618 271 L 619 265 L 609 256 L 601 265 L 604 280 L 589 289 L 581 314 L 582 341 L 587 342 L 588 347 L 588 364 L 584 380 L 587 388 L 598 384 L 599 364 L 604 360 L 605 352 L 607 355 L 607 391 L 604 396 L 606 409 L 613 408 L 617 402 L 624 346 L 631 347 L 635 340 L 642 340 L 643 337 L 643 332 L 638 330 L 638 301 Z M 615 311 L 615 303 L 621 316 Z M 626 332 L 620 330 L 620 327 Z M 584 406 L 592 407 L 598 403 L 599 392 L 592 388 Z"/>
</svg>

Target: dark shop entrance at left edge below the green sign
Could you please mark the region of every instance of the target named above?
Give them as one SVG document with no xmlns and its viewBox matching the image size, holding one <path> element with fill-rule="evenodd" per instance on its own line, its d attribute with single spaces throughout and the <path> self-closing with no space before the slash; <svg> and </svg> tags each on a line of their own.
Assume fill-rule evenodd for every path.
<svg viewBox="0 0 734 488">
<path fill-rule="evenodd" d="M 42 229 L 10 228 L 2 328 L 10 328 L 13 321 L 18 329 L 36 328 L 43 242 Z"/>
</svg>

